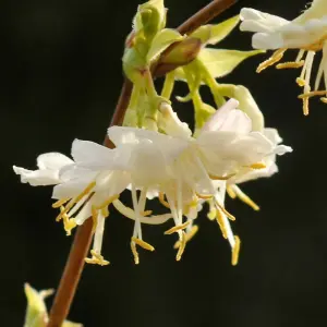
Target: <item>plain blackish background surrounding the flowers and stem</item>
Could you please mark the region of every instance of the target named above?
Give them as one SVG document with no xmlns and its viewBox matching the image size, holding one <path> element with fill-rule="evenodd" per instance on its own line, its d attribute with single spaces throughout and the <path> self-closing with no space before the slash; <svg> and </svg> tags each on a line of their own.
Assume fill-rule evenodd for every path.
<svg viewBox="0 0 327 327">
<path fill-rule="evenodd" d="M 207 2 L 167 0 L 169 26 Z M 244 0 L 216 22 L 241 7 L 293 19 L 306 2 Z M 56 288 L 72 242 L 55 222 L 51 187 L 21 184 L 11 166 L 34 168 L 41 153 L 69 154 L 74 137 L 101 143 L 122 84 L 123 41 L 137 3 L 1 0 L 1 326 L 22 326 L 25 281 Z M 250 49 L 251 35 L 234 31 L 221 47 Z M 304 118 L 294 83 L 299 72 L 269 69 L 257 75 L 255 66 L 266 57 L 247 60 L 222 82 L 250 87 L 267 125 L 294 152 L 279 158 L 280 173 L 244 186 L 259 213 L 227 202 L 242 239 L 239 265 L 230 265 L 228 243 L 202 215 L 199 233 L 180 263 L 172 237 L 162 234 L 169 225 L 145 226 L 156 252 L 142 251 L 135 266 L 129 246 L 133 223 L 112 215 L 104 244 L 111 265 L 86 266 L 71 319 L 87 327 L 326 324 L 327 107 L 314 99 Z M 190 105 L 175 108 L 192 122 Z"/>
</svg>

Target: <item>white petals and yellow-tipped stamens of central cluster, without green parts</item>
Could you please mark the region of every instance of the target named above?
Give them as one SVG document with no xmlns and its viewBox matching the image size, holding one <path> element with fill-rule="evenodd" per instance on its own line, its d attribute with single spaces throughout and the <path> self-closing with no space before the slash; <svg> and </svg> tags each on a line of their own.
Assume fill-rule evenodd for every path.
<svg viewBox="0 0 327 327">
<path fill-rule="evenodd" d="M 197 231 L 194 220 L 204 202 L 210 205 L 209 217 L 217 219 L 222 235 L 232 250 L 232 264 L 238 262 L 240 239 L 233 235 L 229 220 L 234 217 L 225 208 L 225 193 L 239 196 L 257 209 L 240 190 L 239 183 L 276 172 L 276 155 L 291 148 L 279 145 L 275 130 L 252 130 L 252 121 L 230 99 L 201 129 L 197 137 L 178 119 L 167 102 L 159 108 L 160 130 L 128 126 L 108 130 L 116 148 L 75 140 L 72 159 L 57 153 L 37 158 L 38 170 L 14 167 L 22 182 L 31 185 L 55 184 L 52 205 L 59 208 L 57 220 L 63 220 L 68 234 L 75 226 L 93 219 L 94 245 L 87 263 L 107 265 L 101 255 L 105 220 L 112 205 L 124 217 L 134 220 L 131 250 L 138 264 L 136 245 L 154 251 L 144 241 L 142 223 L 158 225 L 168 219 L 173 227 L 166 234 L 177 233 L 180 261 L 186 242 Z M 130 189 L 133 208 L 120 201 Z M 146 209 L 148 198 L 158 197 L 168 208 L 164 215 Z"/>
</svg>

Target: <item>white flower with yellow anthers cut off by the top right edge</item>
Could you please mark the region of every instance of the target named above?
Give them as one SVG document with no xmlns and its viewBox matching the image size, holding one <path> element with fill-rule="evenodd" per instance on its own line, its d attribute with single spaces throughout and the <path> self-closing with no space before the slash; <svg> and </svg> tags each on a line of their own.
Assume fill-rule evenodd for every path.
<svg viewBox="0 0 327 327">
<path fill-rule="evenodd" d="M 303 112 L 308 114 L 308 99 L 322 96 L 322 101 L 327 102 L 327 7 L 324 0 L 314 0 L 308 9 L 293 21 L 287 21 L 276 15 L 264 13 L 254 9 L 241 10 L 241 31 L 254 32 L 252 46 L 256 49 L 276 50 L 272 57 L 263 62 L 257 72 L 279 62 L 288 49 L 298 49 L 299 55 L 293 62 L 277 64 L 277 69 L 302 68 L 296 83 L 304 87 L 304 93 L 299 96 L 303 99 Z M 311 87 L 311 75 L 314 57 L 317 51 L 323 52 L 314 89 Z M 305 58 L 305 59 L 303 59 Z M 322 89 L 324 76 L 325 87 Z"/>
</svg>

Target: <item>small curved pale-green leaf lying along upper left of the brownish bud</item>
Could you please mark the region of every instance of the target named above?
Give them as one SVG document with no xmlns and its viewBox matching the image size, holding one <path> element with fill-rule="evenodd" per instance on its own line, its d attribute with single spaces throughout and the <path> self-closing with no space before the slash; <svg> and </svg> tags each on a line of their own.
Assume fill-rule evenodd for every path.
<svg viewBox="0 0 327 327">
<path fill-rule="evenodd" d="M 174 29 L 165 28 L 160 31 L 152 41 L 150 48 L 146 56 L 147 63 L 150 63 L 153 60 L 155 60 L 170 45 L 182 39 L 183 37 Z"/>
</svg>

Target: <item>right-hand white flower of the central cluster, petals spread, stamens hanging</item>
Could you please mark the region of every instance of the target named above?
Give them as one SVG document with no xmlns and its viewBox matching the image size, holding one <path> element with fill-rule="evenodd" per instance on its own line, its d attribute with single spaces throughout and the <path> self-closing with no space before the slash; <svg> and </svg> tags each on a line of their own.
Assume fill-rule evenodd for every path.
<svg viewBox="0 0 327 327">
<path fill-rule="evenodd" d="M 263 133 L 252 132 L 251 120 L 243 111 L 237 109 L 238 105 L 237 100 L 229 100 L 204 125 L 197 138 L 191 136 L 191 131 L 167 104 L 160 107 L 161 120 L 158 126 L 168 135 L 132 128 L 109 129 L 109 137 L 117 147 L 145 141 L 162 149 L 172 145 L 175 147 L 175 159 L 170 161 L 166 169 L 161 169 L 170 171 L 171 178 L 159 183 L 157 192 L 161 203 L 170 208 L 175 223 L 167 233 L 179 233 L 178 259 L 181 258 L 186 241 L 197 230 L 192 222 L 196 218 L 198 199 L 210 198 L 223 235 L 228 238 L 234 253 L 233 263 L 237 262 L 235 253 L 240 242 L 238 238 L 235 241 L 235 238 L 231 237 L 227 219 L 228 217 L 234 220 L 234 217 L 225 209 L 225 191 L 222 198 L 213 181 L 228 180 L 245 168 L 263 168 L 263 159 L 278 152 L 278 147 Z M 226 182 L 222 182 L 222 186 L 226 187 Z M 186 216 L 185 222 L 183 216 Z"/>
</svg>

